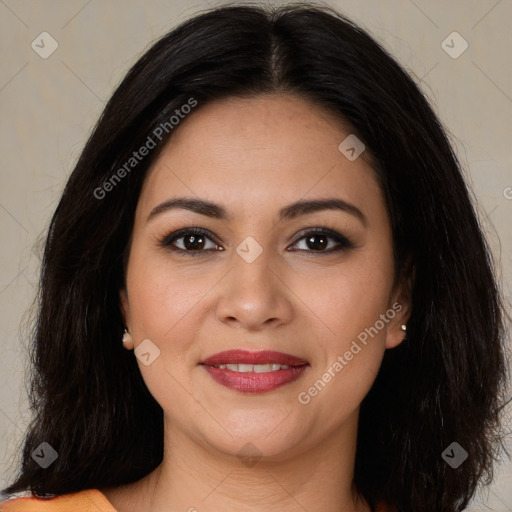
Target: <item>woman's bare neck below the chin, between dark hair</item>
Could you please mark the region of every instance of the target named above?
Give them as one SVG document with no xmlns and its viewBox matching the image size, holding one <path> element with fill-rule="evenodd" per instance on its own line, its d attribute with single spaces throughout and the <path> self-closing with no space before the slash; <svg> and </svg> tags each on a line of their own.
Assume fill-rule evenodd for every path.
<svg viewBox="0 0 512 512">
<path fill-rule="evenodd" d="M 169 424 L 162 463 L 123 497 L 105 492 L 119 512 L 370 511 L 353 485 L 357 414 L 309 449 L 272 460 L 222 453 Z"/>
</svg>

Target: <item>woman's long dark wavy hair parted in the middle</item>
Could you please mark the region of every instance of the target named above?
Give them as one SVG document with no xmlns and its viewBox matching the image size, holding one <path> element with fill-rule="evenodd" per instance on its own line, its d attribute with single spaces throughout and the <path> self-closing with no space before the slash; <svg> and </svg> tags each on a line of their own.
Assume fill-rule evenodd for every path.
<svg viewBox="0 0 512 512">
<path fill-rule="evenodd" d="M 122 346 L 119 290 L 141 186 L 172 130 L 108 195 L 97 190 L 190 98 L 197 111 L 265 93 L 299 95 L 348 123 L 375 161 L 395 274 L 413 262 L 407 339 L 385 352 L 361 404 L 358 492 L 399 512 L 455 512 L 492 480 L 503 446 L 506 313 L 441 123 L 403 68 L 331 7 L 229 5 L 201 12 L 142 55 L 66 184 L 46 238 L 30 346 L 33 419 L 4 493 L 117 486 L 162 461 L 163 412 Z M 454 441 L 469 454 L 456 469 L 441 456 Z M 31 457 L 41 442 L 58 452 L 48 469 Z"/>
</svg>

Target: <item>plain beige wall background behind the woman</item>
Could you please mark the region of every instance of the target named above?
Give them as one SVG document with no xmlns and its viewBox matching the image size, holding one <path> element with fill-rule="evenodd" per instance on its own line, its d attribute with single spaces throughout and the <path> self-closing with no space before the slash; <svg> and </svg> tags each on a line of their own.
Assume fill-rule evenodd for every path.
<svg viewBox="0 0 512 512">
<path fill-rule="evenodd" d="M 129 67 L 178 22 L 221 3 L 0 0 L 1 486 L 14 475 L 16 446 L 30 413 L 24 385 L 28 360 L 21 340 L 40 264 L 36 239 L 48 225 L 93 124 Z M 474 187 L 510 301 L 512 1 L 328 4 L 369 30 L 430 98 Z M 47 59 L 31 47 L 43 31 L 59 45 Z M 456 59 L 441 47 L 453 31 L 469 44 Z M 489 509 L 512 510 L 510 462 L 500 466 L 493 486 L 469 510 Z"/>
</svg>

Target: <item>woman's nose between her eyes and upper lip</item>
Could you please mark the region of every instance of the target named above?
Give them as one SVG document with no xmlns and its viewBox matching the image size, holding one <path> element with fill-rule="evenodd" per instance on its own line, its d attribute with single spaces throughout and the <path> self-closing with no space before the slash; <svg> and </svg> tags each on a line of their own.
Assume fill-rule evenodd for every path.
<svg viewBox="0 0 512 512">
<path fill-rule="evenodd" d="M 220 322 L 256 332 L 291 321 L 293 293 L 284 273 L 269 264 L 266 251 L 252 263 L 234 254 L 233 268 L 219 289 L 216 316 Z"/>
</svg>

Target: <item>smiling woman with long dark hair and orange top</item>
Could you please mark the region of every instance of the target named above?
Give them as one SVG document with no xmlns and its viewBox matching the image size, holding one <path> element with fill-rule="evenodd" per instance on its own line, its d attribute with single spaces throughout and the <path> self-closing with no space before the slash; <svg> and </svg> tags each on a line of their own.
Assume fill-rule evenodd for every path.
<svg viewBox="0 0 512 512">
<path fill-rule="evenodd" d="M 53 216 L 2 510 L 463 510 L 503 340 L 410 77 L 329 8 L 213 9 L 133 66 Z"/>
</svg>

